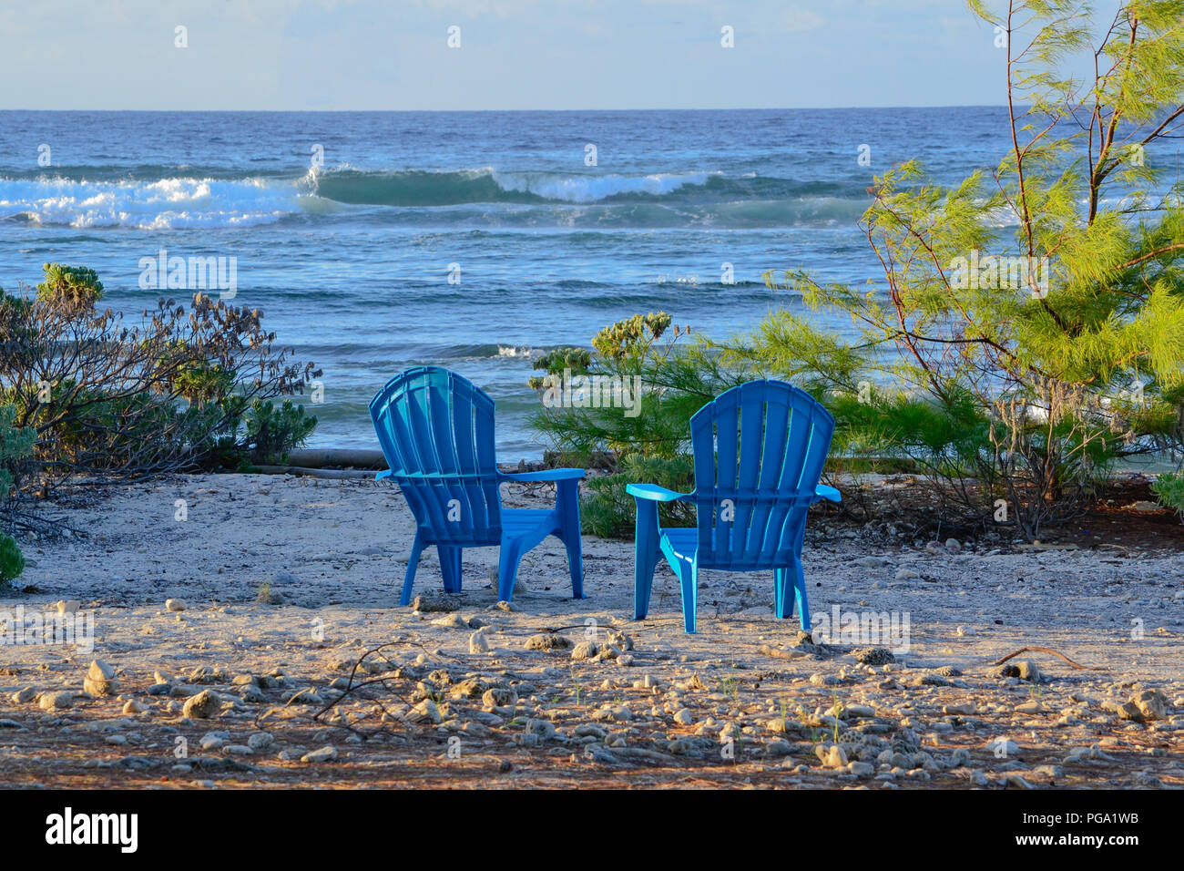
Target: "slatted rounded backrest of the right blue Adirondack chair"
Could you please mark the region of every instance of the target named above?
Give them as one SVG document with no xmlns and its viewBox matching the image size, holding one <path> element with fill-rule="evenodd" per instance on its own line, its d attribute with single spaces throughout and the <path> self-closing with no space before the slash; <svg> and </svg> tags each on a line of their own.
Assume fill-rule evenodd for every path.
<svg viewBox="0 0 1184 871">
<path fill-rule="evenodd" d="M 690 421 L 699 561 L 751 570 L 787 564 L 805 526 L 835 420 L 776 380 L 725 391 Z"/>
</svg>

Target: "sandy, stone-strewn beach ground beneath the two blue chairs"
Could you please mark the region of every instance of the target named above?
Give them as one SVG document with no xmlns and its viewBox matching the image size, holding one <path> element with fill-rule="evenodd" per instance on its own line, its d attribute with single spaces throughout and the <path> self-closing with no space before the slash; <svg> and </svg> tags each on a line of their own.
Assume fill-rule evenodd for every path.
<svg viewBox="0 0 1184 871">
<path fill-rule="evenodd" d="M 633 622 L 632 543 L 593 537 L 583 601 L 551 539 L 509 607 L 481 549 L 455 600 L 425 555 L 400 608 L 413 521 L 368 480 L 186 475 L 44 511 L 76 532 L 21 539 L 0 611 L 92 613 L 94 651 L 0 648 L 11 787 L 1184 786 L 1175 549 L 938 545 L 819 510 L 816 628 L 907 615 L 892 653 L 799 635 L 762 574 L 706 572 L 687 635 L 659 565 Z M 1023 647 L 1082 667 L 992 665 Z"/>
</svg>

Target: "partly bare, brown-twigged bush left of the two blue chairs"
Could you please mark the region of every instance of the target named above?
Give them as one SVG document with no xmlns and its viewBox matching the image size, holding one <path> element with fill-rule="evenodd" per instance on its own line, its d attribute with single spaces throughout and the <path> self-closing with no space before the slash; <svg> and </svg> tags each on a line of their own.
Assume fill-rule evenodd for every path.
<svg viewBox="0 0 1184 871">
<path fill-rule="evenodd" d="M 34 434 L 9 472 L 44 495 L 66 481 L 233 468 L 283 456 L 315 418 L 290 402 L 320 374 L 290 360 L 258 309 L 160 299 L 129 325 L 94 270 L 49 263 L 37 293 L 0 290 L 0 401 Z"/>
</svg>

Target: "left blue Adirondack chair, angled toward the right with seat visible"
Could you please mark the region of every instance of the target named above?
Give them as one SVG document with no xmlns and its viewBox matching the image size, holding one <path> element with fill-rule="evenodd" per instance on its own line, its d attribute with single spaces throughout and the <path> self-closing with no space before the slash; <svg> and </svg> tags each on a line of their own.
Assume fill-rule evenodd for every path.
<svg viewBox="0 0 1184 871">
<path fill-rule="evenodd" d="M 399 485 L 416 515 L 416 538 L 399 604 L 411 602 L 424 547 L 436 545 L 448 593 L 461 591 L 465 547 L 501 546 L 497 595 L 510 601 L 522 555 L 547 536 L 567 547 L 572 595 L 584 598 L 579 479 L 584 469 L 506 474 L 494 450 L 494 401 L 471 382 L 439 366 L 397 374 L 371 401 L 371 418 L 391 467 L 377 475 Z M 555 481 L 552 510 L 503 508 L 502 481 Z"/>
</svg>

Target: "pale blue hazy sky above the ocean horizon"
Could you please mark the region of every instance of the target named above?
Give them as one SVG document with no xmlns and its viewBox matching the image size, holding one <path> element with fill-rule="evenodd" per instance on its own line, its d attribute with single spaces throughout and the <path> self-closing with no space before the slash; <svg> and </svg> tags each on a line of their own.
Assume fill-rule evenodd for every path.
<svg viewBox="0 0 1184 871">
<path fill-rule="evenodd" d="M 0 109 L 997 105 L 1003 55 L 963 0 L 0 0 Z"/>
</svg>

